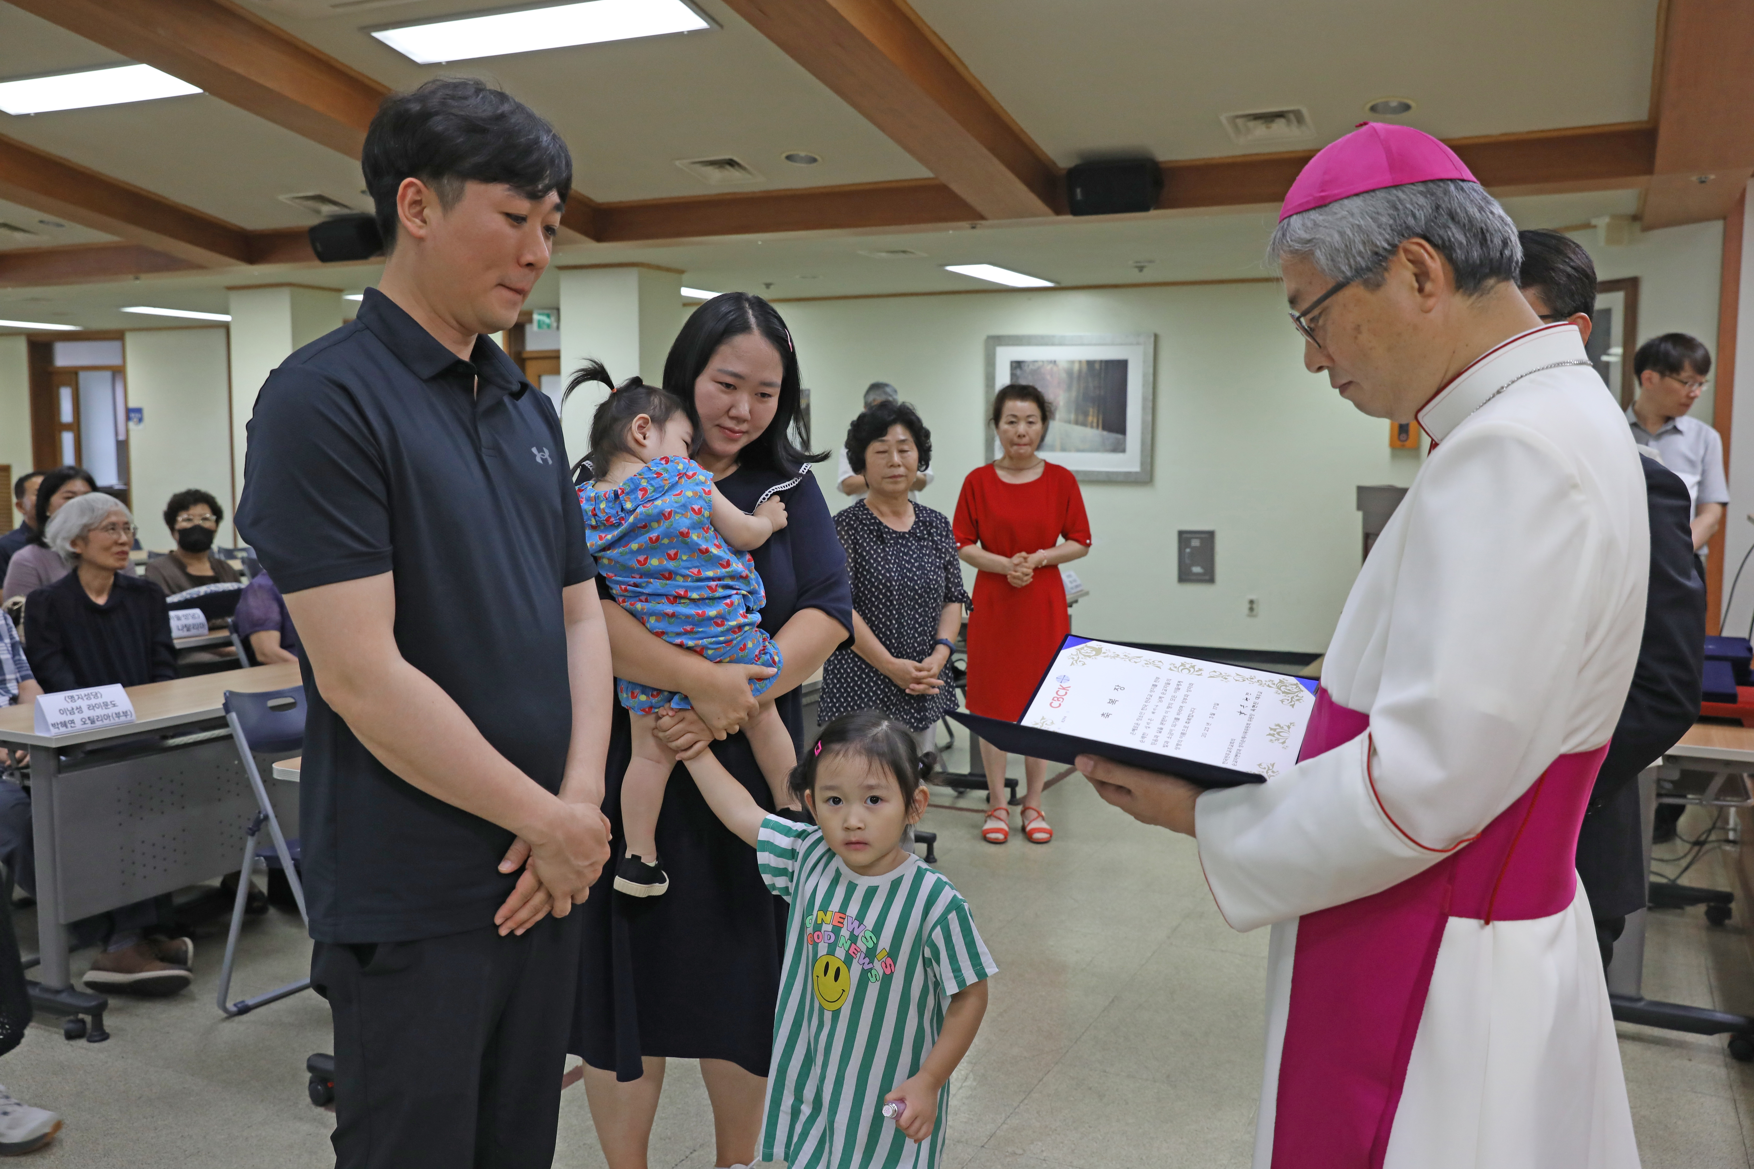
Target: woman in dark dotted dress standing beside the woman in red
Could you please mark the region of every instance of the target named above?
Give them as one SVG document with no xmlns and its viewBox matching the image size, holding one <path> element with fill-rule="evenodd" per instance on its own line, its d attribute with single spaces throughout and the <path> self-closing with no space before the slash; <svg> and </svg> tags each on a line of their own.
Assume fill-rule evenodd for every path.
<svg viewBox="0 0 1754 1169">
<path fill-rule="evenodd" d="M 835 515 L 852 575 L 852 645 L 823 668 L 816 720 L 875 708 L 935 750 L 938 719 L 956 710 L 949 659 L 968 591 L 951 521 L 907 498 L 931 463 L 931 431 L 914 407 L 882 401 L 847 428 L 847 461 L 870 494 Z"/>
</svg>

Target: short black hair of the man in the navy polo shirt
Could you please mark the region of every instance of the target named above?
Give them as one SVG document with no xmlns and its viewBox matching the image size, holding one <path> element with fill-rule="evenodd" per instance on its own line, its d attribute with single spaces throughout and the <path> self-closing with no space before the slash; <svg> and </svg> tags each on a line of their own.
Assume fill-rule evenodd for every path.
<svg viewBox="0 0 1754 1169">
<path fill-rule="evenodd" d="M 505 184 L 528 200 L 572 191 L 572 152 L 528 105 L 477 77 L 435 77 L 377 107 L 360 154 L 384 254 L 396 247 L 396 191 L 419 179 L 446 209 L 465 182 Z"/>
</svg>

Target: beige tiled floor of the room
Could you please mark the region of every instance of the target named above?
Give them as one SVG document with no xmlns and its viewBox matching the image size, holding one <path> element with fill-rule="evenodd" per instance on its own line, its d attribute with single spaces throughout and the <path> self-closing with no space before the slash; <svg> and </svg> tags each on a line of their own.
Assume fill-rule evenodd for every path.
<svg viewBox="0 0 1754 1169">
<path fill-rule="evenodd" d="M 928 813 L 940 868 L 1002 966 L 952 1083 L 947 1169 L 1247 1165 L 1266 932 L 1223 924 L 1189 841 L 1126 820 L 1075 778 L 1045 806 L 1059 831 L 1045 848 L 1019 836 L 995 848 L 977 840 L 977 815 Z M 1728 929 L 1707 927 L 1698 910 L 1652 917 L 1647 995 L 1754 1011 L 1742 906 Z M 249 927 L 237 992 L 298 976 L 307 943 L 293 920 Z M 305 994 L 223 1020 L 212 1003 L 223 936 L 200 946 L 195 992 L 118 1001 L 109 1043 L 65 1043 L 47 1020 L 0 1060 L 0 1081 L 67 1116 L 40 1164 L 330 1164 L 332 1118 L 305 1102 L 302 1071 L 305 1055 L 328 1050 L 323 1003 Z M 1622 1027 L 1621 1052 L 1649 1169 L 1754 1165 L 1754 1067 L 1729 1060 L 1722 1039 Z M 579 1090 L 563 1104 L 556 1164 L 603 1164 Z M 712 1165 L 705 1092 L 681 1060 L 651 1164 Z"/>
</svg>

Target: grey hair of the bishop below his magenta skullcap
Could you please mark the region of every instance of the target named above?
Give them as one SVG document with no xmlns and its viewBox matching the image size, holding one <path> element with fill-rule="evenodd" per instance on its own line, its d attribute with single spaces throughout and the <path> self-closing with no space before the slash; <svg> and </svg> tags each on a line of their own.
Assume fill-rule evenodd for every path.
<svg viewBox="0 0 1754 1169">
<path fill-rule="evenodd" d="M 1479 182 L 1433 179 L 1298 212 L 1273 231 L 1266 263 L 1305 256 L 1333 280 L 1380 287 L 1389 256 L 1407 240 L 1435 247 L 1456 272 L 1456 291 L 1479 294 L 1522 266 L 1517 224 Z"/>
</svg>

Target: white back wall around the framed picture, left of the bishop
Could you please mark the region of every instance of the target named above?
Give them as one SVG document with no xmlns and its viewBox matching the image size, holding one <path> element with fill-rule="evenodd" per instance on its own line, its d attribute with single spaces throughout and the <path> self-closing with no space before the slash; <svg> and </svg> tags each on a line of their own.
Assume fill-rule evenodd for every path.
<svg viewBox="0 0 1754 1169">
<path fill-rule="evenodd" d="M 779 305 L 812 393 L 817 449 L 838 449 L 865 386 L 893 382 L 933 433 L 951 514 L 984 461 L 986 337 L 1156 333 L 1154 482 L 1084 484 L 1096 543 L 1073 564 L 1087 636 L 1319 652 L 1358 573 L 1354 487 L 1408 484 L 1415 452 L 1301 365 L 1277 282 L 991 293 Z M 833 507 L 833 463 L 817 470 Z M 1175 582 L 1175 531 L 1217 531 L 1216 584 Z M 1247 617 L 1247 598 L 1259 617 Z"/>
</svg>

